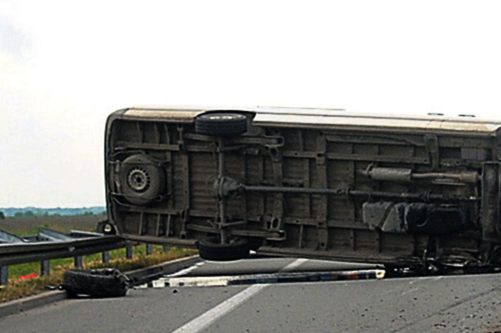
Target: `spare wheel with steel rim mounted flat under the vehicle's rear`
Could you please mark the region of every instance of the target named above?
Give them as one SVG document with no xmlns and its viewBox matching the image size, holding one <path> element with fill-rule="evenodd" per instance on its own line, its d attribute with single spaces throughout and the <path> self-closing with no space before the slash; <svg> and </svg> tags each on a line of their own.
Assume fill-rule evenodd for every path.
<svg viewBox="0 0 501 333">
<path fill-rule="evenodd" d="M 150 157 L 134 154 L 121 164 L 120 184 L 127 201 L 145 205 L 163 192 L 165 171 Z"/>
</svg>

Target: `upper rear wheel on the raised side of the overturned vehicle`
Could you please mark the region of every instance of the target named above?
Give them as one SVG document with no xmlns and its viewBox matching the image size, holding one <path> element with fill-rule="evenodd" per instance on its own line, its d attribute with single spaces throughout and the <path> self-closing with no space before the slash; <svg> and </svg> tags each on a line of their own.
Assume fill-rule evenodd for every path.
<svg viewBox="0 0 501 333">
<path fill-rule="evenodd" d="M 195 131 L 200 134 L 230 136 L 247 131 L 247 117 L 239 113 L 205 113 L 195 118 Z"/>
</svg>

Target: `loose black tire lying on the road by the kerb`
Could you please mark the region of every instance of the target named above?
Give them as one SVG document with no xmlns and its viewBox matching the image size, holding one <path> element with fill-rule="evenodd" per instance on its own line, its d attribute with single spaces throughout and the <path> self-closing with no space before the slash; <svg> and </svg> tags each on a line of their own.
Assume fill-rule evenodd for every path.
<svg viewBox="0 0 501 333">
<path fill-rule="evenodd" d="M 118 269 L 68 269 L 63 275 L 61 288 L 68 296 L 85 294 L 93 297 L 125 296 L 128 278 Z"/>
</svg>

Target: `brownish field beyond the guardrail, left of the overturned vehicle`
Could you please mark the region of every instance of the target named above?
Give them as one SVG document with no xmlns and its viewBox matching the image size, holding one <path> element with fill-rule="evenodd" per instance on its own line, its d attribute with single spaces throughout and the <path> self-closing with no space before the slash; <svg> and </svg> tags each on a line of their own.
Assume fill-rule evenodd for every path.
<svg viewBox="0 0 501 333">
<path fill-rule="evenodd" d="M 8 217 L 0 219 L 0 229 L 21 236 L 36 234 L 42 226 L 61 232 L 95 231 L 96 224 L 104 219 L 103 215 Z"/>
</svg>

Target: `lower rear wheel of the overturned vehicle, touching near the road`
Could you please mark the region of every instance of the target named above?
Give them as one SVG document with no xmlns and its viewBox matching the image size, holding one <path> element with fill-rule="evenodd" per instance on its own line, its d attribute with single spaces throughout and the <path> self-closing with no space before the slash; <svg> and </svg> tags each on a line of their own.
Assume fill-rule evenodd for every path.
<svg viewBox="0 0 501 333">
<path fill-rule="evenodd" d="M 233 238 L 229 243 L 221 244 L 219 237 L 213 236 L 197 243 L 198 255 L 202 259 L 225 261 L 246 258 L 249 255 L 249 244 L 245 238 Z"/>
</svg>

